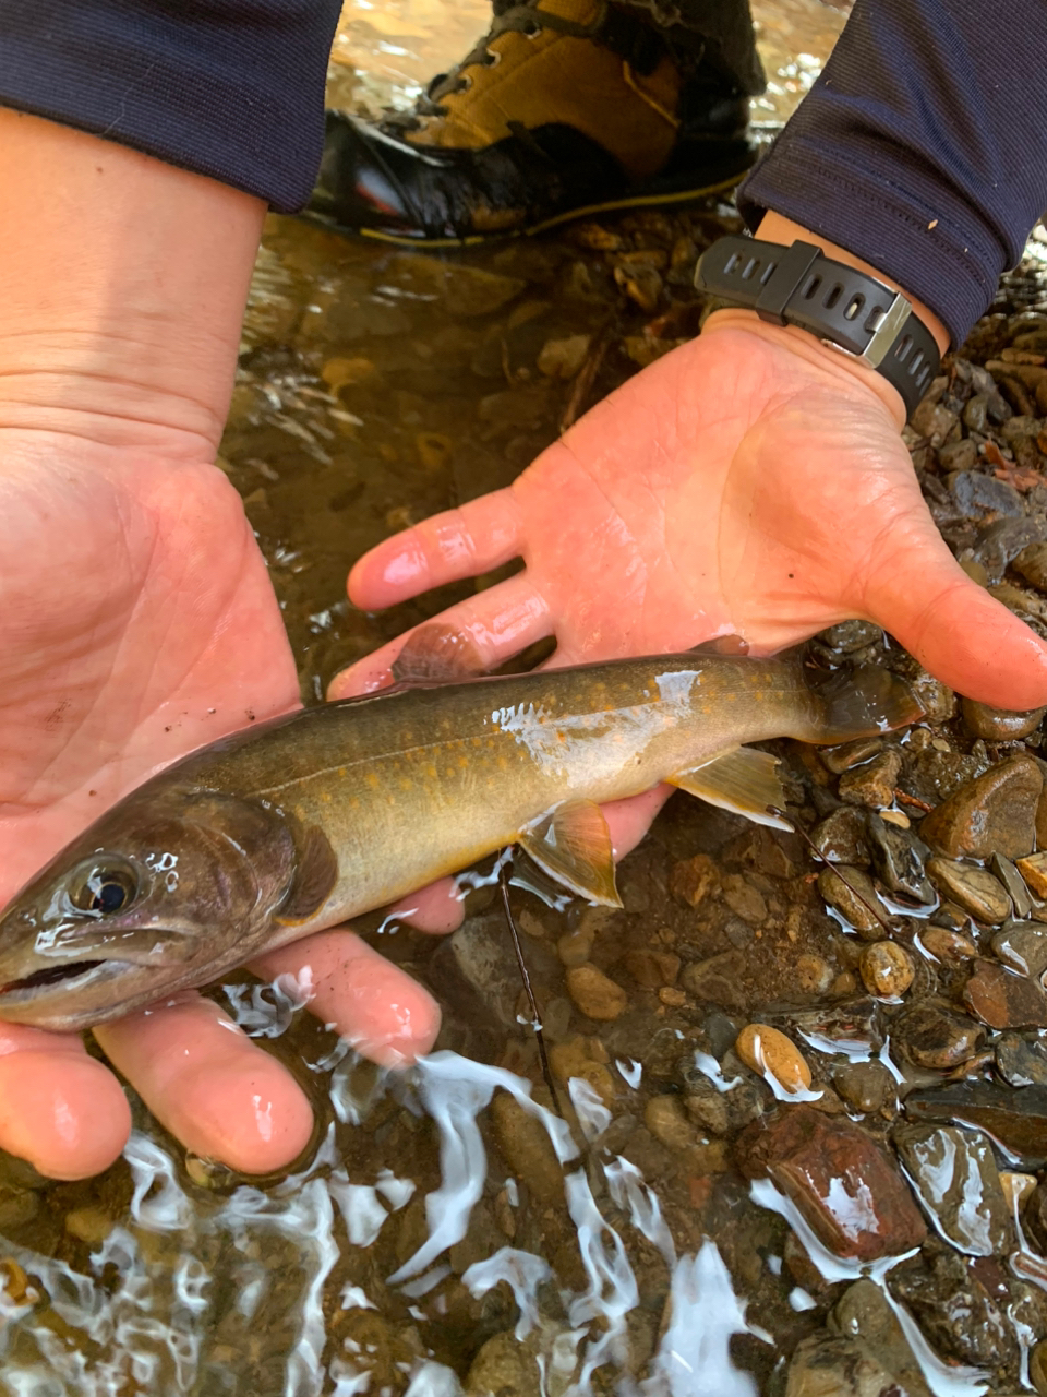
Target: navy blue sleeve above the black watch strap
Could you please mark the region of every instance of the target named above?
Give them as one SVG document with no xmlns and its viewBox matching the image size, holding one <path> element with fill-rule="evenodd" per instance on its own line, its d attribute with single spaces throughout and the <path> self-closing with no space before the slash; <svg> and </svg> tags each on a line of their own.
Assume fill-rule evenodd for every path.
<svg viewBox="0 0 1047 1397">
<path fill-rule="evenodd" d="M 1047 0 L 857 0 L 738 207 L 849 249 L 960 344 L 1047 208 Z"/>
</svg>

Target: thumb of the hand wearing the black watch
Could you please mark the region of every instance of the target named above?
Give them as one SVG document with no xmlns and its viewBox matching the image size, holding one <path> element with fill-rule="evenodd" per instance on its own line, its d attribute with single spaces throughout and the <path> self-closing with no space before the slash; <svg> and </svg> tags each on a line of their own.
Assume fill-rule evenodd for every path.
<svg viewBox="0 0 1047 1397">
<path fill-rule="evenodd" d="M 993 708 L 1047 704 L 1047 644 L 967 577 L 930 518 L 885 564 L 867 613 L 935 679 Z"/>
</svg>

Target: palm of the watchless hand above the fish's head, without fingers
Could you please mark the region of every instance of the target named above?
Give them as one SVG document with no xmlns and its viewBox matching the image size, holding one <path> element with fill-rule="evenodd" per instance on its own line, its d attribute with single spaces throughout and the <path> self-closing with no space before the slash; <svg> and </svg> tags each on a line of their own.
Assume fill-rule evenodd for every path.
<svg viewBox="0 0 1047 1397">
<path fill-rule="evenodd" d="M 214 467 L 99 472 L 36 454 L 22 471 L 15 455 L 0 510 L 3 902 L 149 770 L 248 710 L 286 710 L 297 683 L 265 566 Z"/>
</svg>

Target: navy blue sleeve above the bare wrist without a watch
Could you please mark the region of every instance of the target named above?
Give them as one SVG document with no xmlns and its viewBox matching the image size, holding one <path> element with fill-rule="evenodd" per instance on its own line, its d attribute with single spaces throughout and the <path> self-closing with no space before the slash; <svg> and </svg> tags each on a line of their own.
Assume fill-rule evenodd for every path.
<svg viewBox="0 0 1047 1397">
<path fill-rule="evenodd" d="M 0 0 L 0 105 L 290 211 L 324 141 L 339 0 Z"/>
</svg>

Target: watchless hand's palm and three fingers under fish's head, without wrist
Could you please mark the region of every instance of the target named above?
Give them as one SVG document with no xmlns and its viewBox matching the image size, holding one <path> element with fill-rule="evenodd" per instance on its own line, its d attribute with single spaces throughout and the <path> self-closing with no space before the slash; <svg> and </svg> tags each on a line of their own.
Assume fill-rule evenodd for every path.
<svg viewBox="0 0 1047 1397">
<path fill-rule="evenodd" d="M 181 753 L 299 701 L 239 496 L 212 465 L 0 432 L 0 905 L 124 791 Z M 427 1049 L 429 995 L 348 932 L 261 961 L 383 1062 Z M 193 1151 L 246 1172 L 290 1162 L 311 1112 L 292 1076 L 198 995 L 96 1034 Z M 107 1166 L 130 1115 L 80 1038 L 0 1024 L 0 1147 L 54 1178 Z"/>
</svg>

